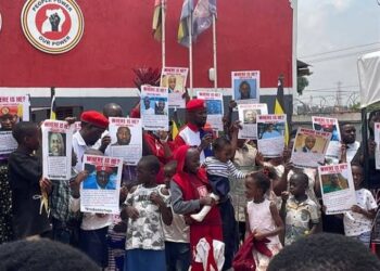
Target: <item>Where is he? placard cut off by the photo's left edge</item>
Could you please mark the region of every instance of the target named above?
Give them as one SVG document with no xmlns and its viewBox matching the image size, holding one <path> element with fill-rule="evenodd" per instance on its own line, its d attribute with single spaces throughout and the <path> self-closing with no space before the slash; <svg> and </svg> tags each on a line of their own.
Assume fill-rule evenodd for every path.
<svg viewBox="0 0 380 271">
<path fill-rule="evenodd" d="M 10 154 L 17 149 L 12 129 L 18 121 L 29 120 L 29 98 L 0 96 L 0 154 Z"/>
</svg>

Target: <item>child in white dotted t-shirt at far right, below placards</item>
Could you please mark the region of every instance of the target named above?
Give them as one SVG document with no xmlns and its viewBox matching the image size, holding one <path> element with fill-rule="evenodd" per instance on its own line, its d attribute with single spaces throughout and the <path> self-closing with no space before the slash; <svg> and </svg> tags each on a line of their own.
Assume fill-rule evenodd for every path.
<svg viewBox="0 0 380 271">
<path fill-rule="evenodd" d="M 372 221 L 378 206 L 372 194 L 368 190 L 360 188 L 364 180 L 363 167 L 358 164 L 352 164 L 351 169 L 357 204 L 344 214 L 344 233 L 346 236 L 362 241 L 369 247 Z"/>
</svg>

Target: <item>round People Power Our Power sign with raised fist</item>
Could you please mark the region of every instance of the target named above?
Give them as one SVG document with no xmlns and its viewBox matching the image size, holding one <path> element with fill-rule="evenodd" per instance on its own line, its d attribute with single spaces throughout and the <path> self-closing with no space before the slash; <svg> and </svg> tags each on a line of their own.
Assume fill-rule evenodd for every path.
<svg viewBox="0 0 380 271">
<path fill-rule="evenodd" d="M 28 0 L 21 23 L 28 41 L 51 54 L 72 50 L 84 34 L 84 16 L 74 0 Z"/>
</svg>

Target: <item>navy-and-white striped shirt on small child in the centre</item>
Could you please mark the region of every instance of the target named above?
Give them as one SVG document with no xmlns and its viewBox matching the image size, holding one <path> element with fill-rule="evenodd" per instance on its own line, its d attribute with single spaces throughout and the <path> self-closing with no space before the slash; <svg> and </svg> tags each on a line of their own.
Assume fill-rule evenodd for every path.
<svg viewBox="0 0 380 271">
<path fill-rule="evenodd" d="M 203 166 L 206 167 L 208 175 L 215 175 L 225 178 L 233 177 L 236 179 L 243 179 L 246 176 L 246 173 L 243 173 L 237 169 L 231 160 L 224 163 L 218 160 L 215 156 L 207 157 L 204 160 Z"/>
</svg>

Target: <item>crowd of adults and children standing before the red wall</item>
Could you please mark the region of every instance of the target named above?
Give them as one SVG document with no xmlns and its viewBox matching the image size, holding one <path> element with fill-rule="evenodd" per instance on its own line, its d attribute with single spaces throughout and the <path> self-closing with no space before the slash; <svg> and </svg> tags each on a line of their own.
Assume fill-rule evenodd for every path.
<svg viewBox="0 0 380 271">
<path fill-rule="evenodd" d="M 235 105 L 231 102 L 230 108 Z M 136 112 L 130 115 L 138 117 Z M 0 156 L 1 243 L 48 237 L 80 249 L 105 270 L 197 271 L 239 270 L 246 262 L 251 270 L 279 270 L 270 268 L 277 254 L 290 251 L 287 247 L 302 240 L 318 240 L 309 236 L 321 232 L 357 240 L 363 249 L 378 238 L 372 231 L 378 203 L 363 186 L 369 181 L 363 165 L 369 159 L 371 183 L 380 183 L 373 143 L 379 112 L 369 116 L 368 146 L 356 141 L 354 126 L 341 125 L 340 163 L 352 165 L 357 201 L 342 215 L 325 214 L 317 170 L 293 166 L 295 132 L 281 157 L 266 158 L 254 141 L 238 138 L 240 122 L 229 114 L 219 137 L 205 129 L 206 106 L 198 99 L 188 101 L 186 124 L 176 138 L 170 131 L 143 131 L 141 159 L 123 167 L 119 215 L 80 212 L 80 185 L 88 177 L 83 157 L 109 155 L 107 118 L 125 116 L 115 103 L 104 105 L 103 114 L 81 114 L 81 129 L 72 141 L 72 178 L 66 181 L 42 178 L 37 124 L 0 118 L 1 128 L 12 130 L 18 144 Z M 117 133 L 117 144 L 129 143 L 129 130 Z M 55 144 L 58 138 L 49 140 Z M 368 147 L 369 157 L 364 157 L 363 147 Z M 56 146 L 51 152 L 61 151 Z M 41 208 L 45 195 L 50 214 Z M 246 241 L 250 246 L 244 246 Z M 250 253 L 241 260 L 237 256 L 245 247 Z M 278 257 L 273 262 L 281 260 L 286 261 Z"/>
</svg>

